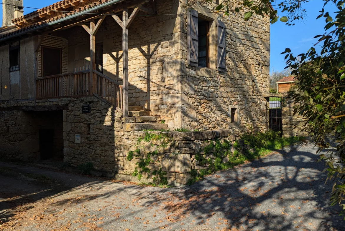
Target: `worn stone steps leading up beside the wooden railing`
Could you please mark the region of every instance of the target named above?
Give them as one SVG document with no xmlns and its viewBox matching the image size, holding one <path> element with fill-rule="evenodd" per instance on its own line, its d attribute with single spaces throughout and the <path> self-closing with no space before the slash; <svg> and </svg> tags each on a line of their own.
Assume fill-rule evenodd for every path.
<svg viewBox="0 0 345 231">
<path fill-rule="evenodd" d="M 128 118 L 125 119 L 125 130 L 161 130 L 168 129 L 167 124 L 158 122 L 158 116 L 151 116 L 151 111 L 145 111 L 142 106 L 129 106 Z"/>
</svg>

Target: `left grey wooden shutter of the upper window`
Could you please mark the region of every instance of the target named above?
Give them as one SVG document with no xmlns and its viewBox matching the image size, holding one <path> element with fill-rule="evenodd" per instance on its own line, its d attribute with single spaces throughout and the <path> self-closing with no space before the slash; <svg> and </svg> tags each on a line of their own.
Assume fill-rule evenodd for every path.
<svg viewBox="0 0 345 231">
<path fill-rule="evenodd" d="M 188 17 L 188 65 L 198 66 L 198 11 L 190 10 Z"/>
</svg>

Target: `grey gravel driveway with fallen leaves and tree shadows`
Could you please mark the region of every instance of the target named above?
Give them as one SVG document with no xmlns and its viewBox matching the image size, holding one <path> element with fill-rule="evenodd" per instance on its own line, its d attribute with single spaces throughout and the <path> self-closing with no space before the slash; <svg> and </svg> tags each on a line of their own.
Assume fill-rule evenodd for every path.
<svg viewBox="0 0 345 231">
<path fill-rule="evenodd" d="M 311 145 L 184 188 L 0 163 L 0 230 L 345 230 Z"/>
</svg>

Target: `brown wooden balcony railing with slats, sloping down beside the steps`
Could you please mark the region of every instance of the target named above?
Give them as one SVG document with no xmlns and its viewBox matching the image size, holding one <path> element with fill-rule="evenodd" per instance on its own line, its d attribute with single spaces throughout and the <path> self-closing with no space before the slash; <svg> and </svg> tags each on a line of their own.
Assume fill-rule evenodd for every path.
<svg viewBox="0 0 345 231">
<path fill-rule="evenodd" d="M 97 96 L 118 111 L 123 109 L 122 85 L 93 70 L 70 72 L 36 79 L 36 99 Z"/>
</svg>

